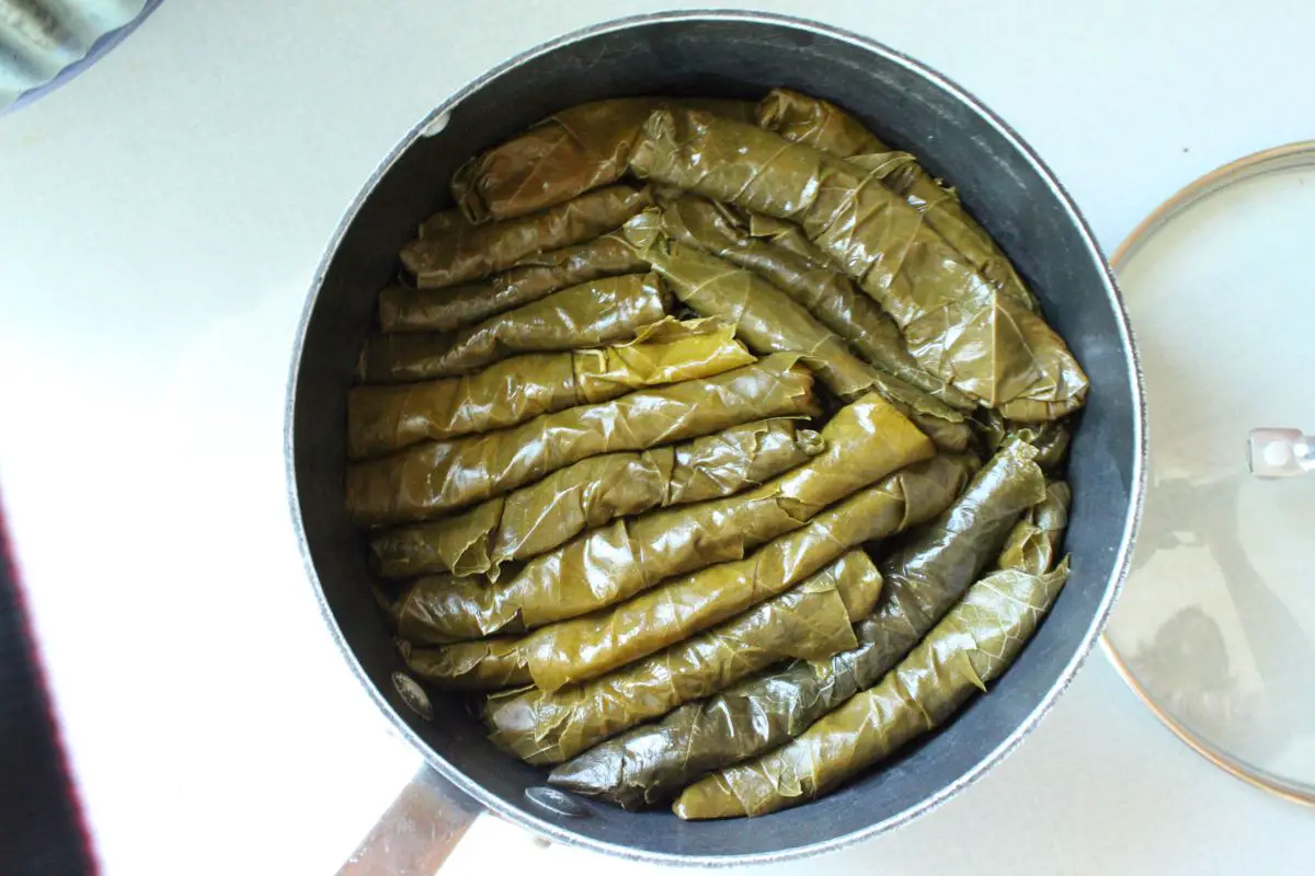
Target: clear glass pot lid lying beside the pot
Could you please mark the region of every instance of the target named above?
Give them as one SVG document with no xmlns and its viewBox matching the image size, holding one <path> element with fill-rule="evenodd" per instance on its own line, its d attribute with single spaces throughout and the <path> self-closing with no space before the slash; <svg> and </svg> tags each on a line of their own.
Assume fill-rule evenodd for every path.
<svg viewBox="0 0 1315 876">
<path fill-rule="evenodd" d="M 1111 261 L 1148 458 L 1106 650 L 1202 755 L 1315 804 L 1315 142 L 1193 183 Z"/>
</svg>

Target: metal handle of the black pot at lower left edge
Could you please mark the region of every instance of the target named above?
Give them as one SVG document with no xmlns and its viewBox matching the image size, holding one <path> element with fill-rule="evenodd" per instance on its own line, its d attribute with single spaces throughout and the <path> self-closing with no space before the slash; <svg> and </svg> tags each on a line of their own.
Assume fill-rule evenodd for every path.
<svg viewBox="0 0 1315 876">
<path fill-rule="evenodd" d="M 434 876 L 480 812 L 451 781 L 422 766 L 338 876 Z"/>
</svg>

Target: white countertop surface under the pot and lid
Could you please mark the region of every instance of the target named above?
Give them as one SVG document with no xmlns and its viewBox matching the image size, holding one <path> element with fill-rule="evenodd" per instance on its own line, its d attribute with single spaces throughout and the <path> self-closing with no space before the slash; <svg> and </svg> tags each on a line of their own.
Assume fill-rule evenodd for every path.
<svg viewBox="0 0 1315 876">
<path fill-rule="evenodd" d="M 1315 130 L 1301 0 L 757 5 L 977 93 L 1107 251 L 1184 183 Z M 296 319 L 341 213 L 435 102 L 562 32 L 664 7 L 170 0 L 0 118 L 0 487 L 107 873 L 334 872 L 418 764 L 301 570 L 280 444 Z M 932 816 L 769 869 L 1277 873 L 1312 855 L 1315 812 L 1191 754 L 1098 654 Z M 656 869 L 485 817 L 444 875 L 494 860 Z"/>
</svg>

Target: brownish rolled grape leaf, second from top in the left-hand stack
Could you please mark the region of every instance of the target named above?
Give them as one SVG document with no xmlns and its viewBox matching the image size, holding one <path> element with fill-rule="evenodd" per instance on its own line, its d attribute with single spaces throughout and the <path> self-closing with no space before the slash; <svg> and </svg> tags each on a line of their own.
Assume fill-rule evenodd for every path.
<svg viewBox="0 0 1315 876">
<path fill-rule="evenodd" d="M 614 231 L 647 206 L 652 206 L 648 189 L 609 185 L 506 222 L 472 225 L 450 210 L 426 219 L 421 236 L 402 247 L 402 267 L 417 286 L 455 286 Z"/>
</svg>

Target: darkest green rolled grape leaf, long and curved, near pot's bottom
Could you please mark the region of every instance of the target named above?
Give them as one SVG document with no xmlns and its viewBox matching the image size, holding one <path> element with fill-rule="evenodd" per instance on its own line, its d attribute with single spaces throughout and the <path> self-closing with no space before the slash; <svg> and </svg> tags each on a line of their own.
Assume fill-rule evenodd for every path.
<svg viewBox="0 0 1315 876">
<path fill-rule="evenodd" d="M 659 802 L 709 770 L 784 745 L 876 684 L 999 553 L 1019 515 L 1045 495 L 1034 454 L 1024 444 L 1007 445 L 940 519 L 882 563 L 886 594 L 873 617 L 859 625 L 864 644 L 857 649 L 682 707 L 565 764 L 554 781 L 627 808 Z"/>
</svg>

